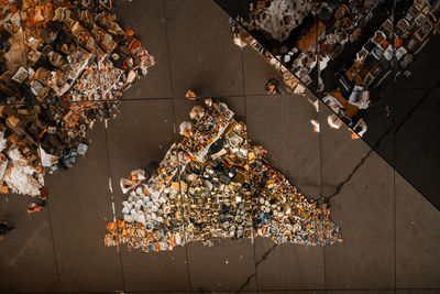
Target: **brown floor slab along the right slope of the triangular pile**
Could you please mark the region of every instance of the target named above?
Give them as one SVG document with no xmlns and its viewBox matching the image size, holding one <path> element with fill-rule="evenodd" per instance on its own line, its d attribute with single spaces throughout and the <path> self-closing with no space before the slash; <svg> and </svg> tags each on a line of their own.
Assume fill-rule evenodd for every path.
<svg viewBox="0 0 440 294">
<path fill-rule="evenodd" d="M 319 120 L 308 101 L 311 95 L 246 97 L 248 135 L 268 152 L 270 163 L 301 193 L 319 198 L 321 190 L 319 134 L 310 120 Z"/>
</svg>

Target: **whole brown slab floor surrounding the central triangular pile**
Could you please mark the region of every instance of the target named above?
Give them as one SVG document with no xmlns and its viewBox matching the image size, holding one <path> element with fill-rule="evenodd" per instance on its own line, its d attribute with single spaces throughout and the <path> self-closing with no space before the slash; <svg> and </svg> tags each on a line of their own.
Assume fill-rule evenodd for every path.
<svg viewBox="0 0 440 294">
<path fill-rule="evenodd" d="M 132 0 L 120 18 L 142 36 L 157 66 L 128 90 L 120 116 L 89 134 L 86 159 L 46 178 L 50 200 L 0 196 L 0 218 L 16 231 L 0 242 L 0 292 L 124 293 L 439 293 L 439 211 L 330 113 L 304 96 L 265 96 L 276 76 L 251 48 L 232 43 L 228 15 L 208 0 Z M 202 11 L 202 13 L 201 13 Z M 215 34 L 212 32 L 216 32 Z M 160 161 L 188 118 L 188 88 L 219 97 L 248 123 L 249 138 L 270 152 L 306 195 L 330 197 L 343 244 L 308 248 L 220 241 L 142 254 L 103 246 L 124 196 L 119 178 Z M 314 133 L 309 120 L 321 121 Z"/>
</svg>

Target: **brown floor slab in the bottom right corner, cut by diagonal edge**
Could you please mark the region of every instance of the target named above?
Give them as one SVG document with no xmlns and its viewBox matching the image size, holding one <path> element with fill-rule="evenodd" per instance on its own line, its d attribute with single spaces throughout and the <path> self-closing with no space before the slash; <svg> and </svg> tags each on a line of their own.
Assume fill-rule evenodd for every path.
<svg viewBox="0 0 440 294">
<path fill-rule="evenodd" d="M 396 173 L 397 288 L 440 288 L 438 224 L 439 210 Z"/>
</svg>

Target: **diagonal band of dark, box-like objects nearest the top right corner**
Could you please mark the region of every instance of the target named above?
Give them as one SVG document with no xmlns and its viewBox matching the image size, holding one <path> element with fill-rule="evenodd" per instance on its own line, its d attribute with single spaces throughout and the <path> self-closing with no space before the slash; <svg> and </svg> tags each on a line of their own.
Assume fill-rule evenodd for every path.
<svg viewBox="0 0 440 294">
<path fill-rule="evenodd" d="M 342 6 L 344 14 L 350 8 Z M 440 1 L 402 1 L 394 14 L 378 23 L 353 56 L 350 68 L 340 68 L 330 92 L 336 112 L 359 134 L 366 131 L 362 117 L 381 100 L 381 84 L 387 78 L 410 76 L 409 65 L 432 34 L 440 32 Z M 333 47 L 321 41 L 322 52 Z M 342 52 L 342 51 L 341 51 Z M 392 77 L 392 75 L 395 75 Z"/>
</svg>

